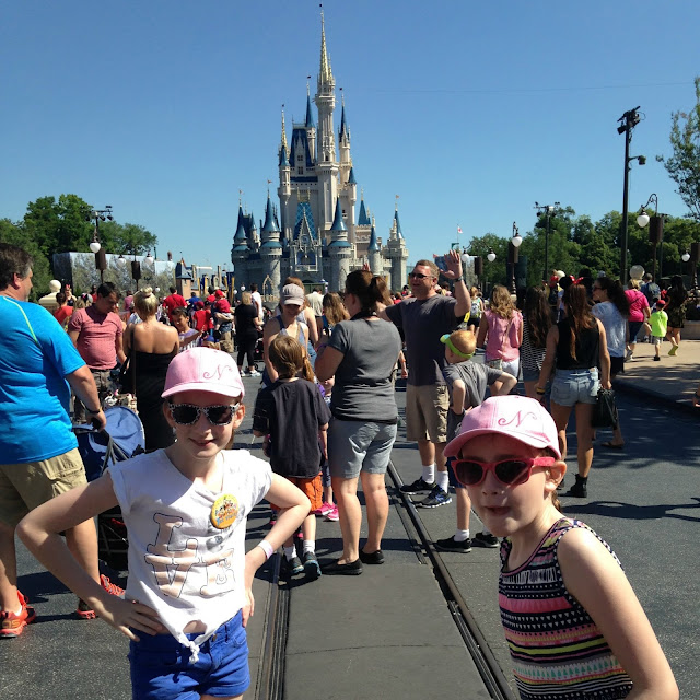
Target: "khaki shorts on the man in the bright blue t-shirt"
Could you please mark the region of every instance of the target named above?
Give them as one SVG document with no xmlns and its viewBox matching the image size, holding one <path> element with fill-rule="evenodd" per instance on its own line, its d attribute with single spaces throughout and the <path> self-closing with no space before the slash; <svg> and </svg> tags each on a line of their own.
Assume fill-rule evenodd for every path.
<svg viewBox="0 0 700 700">
<path fill-rule="evenodd" d="M 0 521 L 15 527 L 42 503 L 88 483 L 78 448 L 40 462 L 0 465 Z"/>
</svg>

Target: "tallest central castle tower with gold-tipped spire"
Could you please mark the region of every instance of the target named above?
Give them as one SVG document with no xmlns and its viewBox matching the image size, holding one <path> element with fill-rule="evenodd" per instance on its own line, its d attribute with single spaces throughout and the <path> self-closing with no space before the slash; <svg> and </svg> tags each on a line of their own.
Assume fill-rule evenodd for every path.
<svg viewBox="0 0 700 700">
<path fill-rule="evenodd" d="M 318 149 L 316 173 L 318 176 L 318 220 L 320 231 L 331 225 L 334 205 L 338 199 L 338 162 L 336 160 L 336 133 L 332 127 L 332 113 L 336 107 L 336 81 L 330 70 L 326 51 L 326 28 L 324 14 L 320 13 L 320 67 L 316 96 L 318 108 Z"/>
</svg>

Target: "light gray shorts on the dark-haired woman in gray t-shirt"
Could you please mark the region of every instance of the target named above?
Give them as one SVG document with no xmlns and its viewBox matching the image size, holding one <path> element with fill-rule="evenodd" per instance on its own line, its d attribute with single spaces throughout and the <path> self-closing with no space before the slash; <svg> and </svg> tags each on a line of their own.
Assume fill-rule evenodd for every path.
<svg viewBox="0 0 700 700">
<path fill-rule="evenodd" d="M 328 427 L 330 476 L 357 479 L 360 471 L 386 474 L 395 440 L 395 423 L 334 418 Z"/>
</svg>

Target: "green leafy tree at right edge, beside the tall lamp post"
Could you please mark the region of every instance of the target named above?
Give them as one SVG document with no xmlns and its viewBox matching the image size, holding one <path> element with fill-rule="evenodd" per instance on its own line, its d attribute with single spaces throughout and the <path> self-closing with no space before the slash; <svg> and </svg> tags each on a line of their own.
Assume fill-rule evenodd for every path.
<svg viewBox="0 0 700 700">
<path fill-rule="evenodd" d="M 664 164 L 676 190 L 690 210 L 690 217 L 700 222 L 700 77 L 695 80 L 696 104 L 689 113 L 672 115 L 670 147 L 673 155 L 656 160 Z"/>
</svg>

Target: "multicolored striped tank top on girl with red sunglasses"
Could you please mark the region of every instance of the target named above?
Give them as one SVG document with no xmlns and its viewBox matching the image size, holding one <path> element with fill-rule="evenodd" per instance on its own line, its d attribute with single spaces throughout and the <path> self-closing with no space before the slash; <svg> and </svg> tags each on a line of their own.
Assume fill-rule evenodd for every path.
<svg viewBox="0 0 700 700">
<path fill-rule="evenodd" d="M 600 630 L 564 586 L 557 548 L 574 527 L 593 533 L 615 557 L 585 523 L 565 517 L 513 571 L 504 571 L 511 542 L 501 545 L 499 606 L 522 700 L 615 700 L 632 690 Z"/>
</svg>

